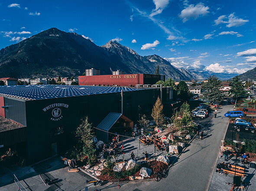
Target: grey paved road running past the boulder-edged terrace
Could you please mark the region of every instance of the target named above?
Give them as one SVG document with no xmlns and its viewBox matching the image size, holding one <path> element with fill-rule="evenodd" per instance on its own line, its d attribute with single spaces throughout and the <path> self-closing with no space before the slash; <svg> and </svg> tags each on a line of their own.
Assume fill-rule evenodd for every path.
<svg viewBox="0 0 256 191">
<path fill-rule="evenodd" d="M 120 190 L 205 191 L 214 169 L 221 140 L 223 140 L 227 129 L 228 119 L 221 116 L 224 116 L 227 110 L 232 110 L 232 107 L 232 105 L 222 106 L 218 110 L 216 119 L 209 117 L 201 121 L 205 126 L 204 139 L 192 141 L 169 170 L 167 178 L 160 182 L 132 182 L 123 185 Z"/>
</svg>

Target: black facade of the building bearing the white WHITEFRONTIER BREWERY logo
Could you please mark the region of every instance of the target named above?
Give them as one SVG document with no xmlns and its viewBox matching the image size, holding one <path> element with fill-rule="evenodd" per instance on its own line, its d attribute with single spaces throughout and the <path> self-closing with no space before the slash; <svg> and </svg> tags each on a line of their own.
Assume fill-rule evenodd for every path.
<svg viewBox="0 0 256 191">
<path fill-rule="evenodd" d="M 78 87 L 81 88 L 81 86 Z M 162 100 L 169 100 L 171 91 L 170 88 L 163 88 Z M 82 118 L 88 117 L 89 122 L 96 127 L 108 113 L 121 113 L 120 91 L 28 100 L 3 95 L 0 89 L 0 96 L 4 97 L 5 118 L 24 126 L 21 127 L 23 133 L 18 135 L 20 138 L 16 140 L 25 140 L 28 163 L 41 161 L 73 147 L 74 132 Z M 136 124 L 139 114 L 149 113 L 152 110 L 157 97 L 161 97 L 160 88 L 124 91 L 123 115 Z M 11 131 L 14 133 L 17 130 L 10 130 L 8 139 L 15 138 Z M 7 136 L 6 132 L 0 132 L 0 138 L 3 133 Z M 15 136 L 17 137 L 16 134 Z M 10 141 L 6 145 L 3 140 L 0 140 L 0 145 L 3 147 L 10 144 Z M 17 142 L 13 140 L 13 144 Z"/>
</svg>

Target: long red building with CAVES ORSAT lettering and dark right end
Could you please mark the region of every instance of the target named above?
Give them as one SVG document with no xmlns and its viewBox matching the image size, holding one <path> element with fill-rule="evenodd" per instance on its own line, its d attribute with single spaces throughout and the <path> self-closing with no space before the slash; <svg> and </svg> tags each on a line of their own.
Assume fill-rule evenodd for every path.
<svg viewBox="0 0 256 191">
<path fill-rule="evenodd" d="M 122 75 L 91 75 L 79 76 L 79 85 L 117 85 L 135 86 L 156 84 L 157 81 L 165 81 L 165 75 L 154 74 L 122 74 Z"/>
</svg>

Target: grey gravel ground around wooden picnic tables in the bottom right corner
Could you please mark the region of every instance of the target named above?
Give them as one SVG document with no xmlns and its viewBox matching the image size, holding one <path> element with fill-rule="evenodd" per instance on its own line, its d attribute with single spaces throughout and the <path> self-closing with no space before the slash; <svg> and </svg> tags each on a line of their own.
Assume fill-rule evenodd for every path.
<svg viewBox="0 0 256 191">
<path fill-rule="evenodd" d="M 218 158 L 217 164 L 222 163 L 224 161 L 224 157 Z M 235 164 L 235 158 L 231 158 L 228 160 L 228 163 Z M 237 165 L 244 167 L 239 160 L 237 160 Z M 215 166 L 216 169 L 216 166 Z M 245 176 L 242 178 L 242 181 L 246 183 L 246 191 L 255 191 L 256 189 L 256 169 L 254 168 L 246 168 Z M 232 185 L 228 185 L 227 183 L 233 183 L 233 175 L 225 175 L 220 174 L 214 171 L 213 177 L 211 179 L 211 184 L 209 187 L 209 191 L 228 191 L 232 187 Z"/>
</svg>

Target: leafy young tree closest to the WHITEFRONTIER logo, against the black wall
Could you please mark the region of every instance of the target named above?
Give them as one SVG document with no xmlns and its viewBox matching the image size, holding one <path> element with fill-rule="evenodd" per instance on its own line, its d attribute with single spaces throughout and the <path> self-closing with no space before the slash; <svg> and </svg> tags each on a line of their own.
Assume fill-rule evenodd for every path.
<svg viewBox="0 0 256 191">
<path fill-rule="evenodd" d="M 94 145 L 94 132 L 91 123 L 88 122 L 88 118 L 81 122 L 78 126 L 75 136 L 78 140 L 76 150 L 77 159 L 83 162 L 87 160 L 87 163 L 93 165 L 97 162 L 96 149 Z"/>
</svg>

